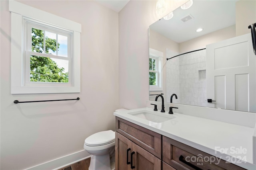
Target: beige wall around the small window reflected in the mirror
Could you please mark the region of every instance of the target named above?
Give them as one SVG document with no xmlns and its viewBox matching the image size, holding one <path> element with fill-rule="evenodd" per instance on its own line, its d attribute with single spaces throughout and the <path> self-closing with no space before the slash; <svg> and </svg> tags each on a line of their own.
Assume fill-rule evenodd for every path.
<svg viewBox="0 0 256 170">
<path fill-rule="evenodd" d="M 163 93 L 164 98 L 166 99 L 166 48 L 171 49 L 172 51 L 179 52 L 179 44 L 164 37 L 163 35 L 157 33 L 156 31 L 149 30 L 149 47 L 157 51 L 164 53 L 163 59 L 163 91 L 150 92 L 150 94 L 160 94 Z M 149 100 L 155 100 L 156 96 L 149 96 Z M 160 100 L 159 100 L 160 101 Z"/>
</svg>

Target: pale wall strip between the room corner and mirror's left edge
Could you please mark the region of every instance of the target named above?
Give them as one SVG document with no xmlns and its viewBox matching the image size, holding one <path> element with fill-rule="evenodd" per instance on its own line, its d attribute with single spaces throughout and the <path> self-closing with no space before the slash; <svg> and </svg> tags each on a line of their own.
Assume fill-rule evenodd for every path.
<svg viewBox="0 0 256 170">
<path fill-rule="evenodd" d="M 146 106 L 148 100 L 148 27 L 186 1 L 170 0 L 165 14 L 156 14 L 156 1 L 131 0 L 119 12 L 120 107 Z"/>
</svg>

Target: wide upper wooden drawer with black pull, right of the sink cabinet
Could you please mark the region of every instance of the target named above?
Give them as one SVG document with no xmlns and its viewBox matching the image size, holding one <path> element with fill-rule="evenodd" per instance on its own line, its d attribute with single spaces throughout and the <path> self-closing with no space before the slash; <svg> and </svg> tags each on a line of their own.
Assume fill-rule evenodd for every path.
<svg viewBox="0 0 256 170">
<path fill-rule="evenodd" d="M 163 161 L 177 170 L 245 170 L 164 136 Z"/>
</svg>

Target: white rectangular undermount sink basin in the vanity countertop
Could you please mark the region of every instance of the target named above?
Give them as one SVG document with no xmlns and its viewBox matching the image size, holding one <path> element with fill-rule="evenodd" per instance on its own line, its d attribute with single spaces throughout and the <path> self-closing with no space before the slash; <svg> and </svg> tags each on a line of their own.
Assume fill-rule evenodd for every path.
<svg viewBox="0 0 256 170">
<path fill-rule="evenodd" d="M 164 121 L 168 121 L 170 119 L 175 118 L 174 116 L 171 116 L 171 115 L 163 115 L 163 113 L 154 113 L 153 111 L 148 111 L 148 110 L 134 111 L 128 114 L 142 118 L 142 119 L 146 119 L 148 121 L 152 121 L 155 123 L 162 123 Z"/>
</svg>

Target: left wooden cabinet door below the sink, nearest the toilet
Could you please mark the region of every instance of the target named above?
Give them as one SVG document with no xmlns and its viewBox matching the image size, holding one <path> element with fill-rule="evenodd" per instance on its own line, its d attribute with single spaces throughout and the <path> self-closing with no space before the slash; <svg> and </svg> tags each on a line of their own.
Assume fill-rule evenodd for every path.
<svg viewBox="0 0 256 170">
<path fill-rule="evenodd" d="M 116 170 L 131 169 L 132 141 L 116 132 L 115 159 Z M 128 157 L 127 157 L 128 156 Z"/>
</svg>

